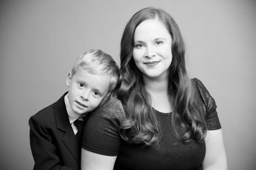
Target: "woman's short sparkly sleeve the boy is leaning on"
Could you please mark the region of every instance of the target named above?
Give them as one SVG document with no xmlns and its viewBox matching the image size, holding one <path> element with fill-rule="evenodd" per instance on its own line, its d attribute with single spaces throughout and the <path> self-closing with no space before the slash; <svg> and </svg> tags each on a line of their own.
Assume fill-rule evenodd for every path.
<svg viewBox="0 0 256 170">
<path fill-rule="evenodd" d="M 82 147 L 94 153 L 116 156 L 121 145 L 119 127 L 125 120 L 122 103 L 111 93 L 99 108 L 88 115 Z"/>
</svg>

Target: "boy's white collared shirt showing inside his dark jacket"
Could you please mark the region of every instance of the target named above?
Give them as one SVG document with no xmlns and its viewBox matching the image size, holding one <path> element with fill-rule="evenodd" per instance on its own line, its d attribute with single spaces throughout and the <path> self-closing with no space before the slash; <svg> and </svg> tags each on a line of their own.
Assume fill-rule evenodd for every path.
<svg viewBox="0 0 256 170">
<path fill-rule="evenodd" d="M 74 122 L 78 119 L 80 121 L 84 121 L 84 115 L 79 115 L 77 113 L 75 113 L 71 106 L 70 106 L 70 103 L 69 103 L 69 100 L 68 100 L 68 93 L 65 95 L 64 97 L 64 102 L 65 102 L 65 105 L 66 105 L 66 109 L 67 109 L 67 113 L 68 113 L 68 119 L 69 119 L 69 122 L 70 122 L 70 125 L 74 131 L 74 133 L 76 134 L 78 132 L 78 129 L 77 127 L 75 126 Z"/>
</svg>

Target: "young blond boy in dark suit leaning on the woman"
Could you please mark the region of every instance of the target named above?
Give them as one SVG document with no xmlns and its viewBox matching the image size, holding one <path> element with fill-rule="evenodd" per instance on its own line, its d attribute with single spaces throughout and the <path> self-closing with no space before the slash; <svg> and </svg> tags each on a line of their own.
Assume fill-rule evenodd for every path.
<svg viewBox="0 0 256 170">
<path fill-rule="evenodd" d="M 94 110 L 119 80 L 113 58 L 89 50 L 68 73 L 66 92 L 29 119 L 34 170 L 79 170 L 85 113 Z"/>
</svg>

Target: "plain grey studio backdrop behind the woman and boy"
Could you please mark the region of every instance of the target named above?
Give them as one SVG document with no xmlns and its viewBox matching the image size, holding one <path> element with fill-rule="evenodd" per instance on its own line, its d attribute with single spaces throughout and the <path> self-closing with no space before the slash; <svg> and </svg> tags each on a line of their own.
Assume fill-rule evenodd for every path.
<svg viewBox="0 0 256 170">
<path fill-rule="evenodd" d="M 256 167 L 255 21 L 253 0 L 0 2 L 0 169 L 32 169 L 29 118 L 68 90 L 75 59 L 89 49 L 120 65 L 124 27 L 154 6 L 175 19 L 191 77 L 216 101 L 228 169 Z"/>
</svg>

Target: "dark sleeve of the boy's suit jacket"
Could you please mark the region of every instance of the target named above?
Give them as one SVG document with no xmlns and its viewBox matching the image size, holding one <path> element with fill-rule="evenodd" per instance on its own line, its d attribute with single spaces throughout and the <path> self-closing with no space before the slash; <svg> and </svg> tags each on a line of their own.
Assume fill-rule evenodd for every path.
<svg viewBox="0 0 256 170">
<path fill-rule="evenodd" d="M 33 169 L 72 170 L 67 166 L 61 166 L 50 130 L 44 126 L 43 121 L 32 116 L 29 119 L 29 127 L 30 147 L 35 161 Z"/>
</svg>

